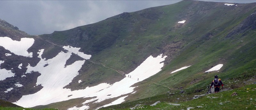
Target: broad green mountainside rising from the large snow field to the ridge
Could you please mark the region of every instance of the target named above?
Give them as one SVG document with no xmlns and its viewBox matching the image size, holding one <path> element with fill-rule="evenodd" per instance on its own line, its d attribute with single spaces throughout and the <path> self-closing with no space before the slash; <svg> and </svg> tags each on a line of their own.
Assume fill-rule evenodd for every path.
<svg viewBox="0 0 256 110">
<path fill-rule="evenodd" d="M 253 5 L 239 4 L 234 7 L 226 6 L 223 3 L 182 1 L 129 14 L 124 13 L 93 25 L 79 27 L 93 36 L 91 40 L 89 36 L 88 40 L 93 40 L 93 42 L 79 40 L 78 42 L 85 41 L 85 43 L 77 45 L 84 45 L 82 49 L 85 52 L 96 53 L 92 55 L 92 61 L 122 70 L 125 73 L 132 71 L 149 55 L 162 53 L 168 55 L 169 59 L 165 62 L 163 70 L 134 85 L 140 85 L 140 88 L 136 88 L 137 92 L 129 96 L 126 102 L 143 100 L 152 96 L 156 96 L 156 99 L 163 97 L 164 100 L 165 95 L 157 96 L 170 91 L 164 86 L 174 88 L 171 92 L 179 92 L 182 86 L 187 94 L 195 94 L 204 90 L 215 74 L 225 81 L 248 69 L 255 68 L 255 58 L 253 57 L 255 56 L 255 37 L 252 37 L 255 36 L 255 30 L 250 32 L 248 30 L 248 34 L 245 36 L 237 34 L 233 38 L 225 38 L 234 26 L 255 10 Z M 248 7 L 252 8 L 248 9 Z M 187 21 L 180 25 L 177 22 L 181 20 Z M 62 40 L 68 39 L 64 42 L 71 41 L 72 39 L 68 38 L 68 33 L 71 33 L 72 29 L 68 31 L 54 33 L 56 35 L 52 40 L 58 42 L 60 41 L 58 37 L 64 36 L 61 38 Z M 107 36 L 114 36 L 114 38 L 108 38 L 104 33 L 107 33 Z M 211 33 L 211 35 L 207 36 L 207 33 Z M 101 38 L 101 36 L 105 37 Z M 106 39 L 108 39 L 107 41 L 110 39 L 113 43 L 104 43 L 106 47 L 100 47 L 100 51 L 96 51 L 95 45 L 100 46 L 98 44 Z M 181 43 L 178 45 L 175 42 Z M 93 43 L 96 44 L 92 46 Z M 175 52 L 168 53 L 166 51 L 168 49 L 164 49 L 164 47 L 172 44 L 180 48 L 175 48 L 173 50 Z M 220 72 L 204 73 L 217 64 L 224 64 Z M 192 66 L 170 74 L 176 69 L 189 65 Z M 82 75 L 85 77 L 84 80 L 96 80 L 94 85 L 107 81 L 105 80 L 107 76 L 100 74 L 107 73 L 108 70 L 102 69 L 100 72 L 96 72 L 92 68 L 83 72 L 88 72 L 88 75 Z M 115 71 L 109 74 L 119 75 Z M 98 78 L 95 79 L 95 77 Z M 86 83 L 90 82 L 82 84 L 87 85 Z"/>
</svg>

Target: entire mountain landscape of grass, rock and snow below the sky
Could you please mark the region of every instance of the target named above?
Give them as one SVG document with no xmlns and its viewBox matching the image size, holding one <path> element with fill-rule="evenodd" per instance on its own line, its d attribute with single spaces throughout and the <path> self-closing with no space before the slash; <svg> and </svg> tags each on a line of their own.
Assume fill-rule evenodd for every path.
<svg viewBox="0 0 256 110">
<path fill-rule="evenodd" d="M 208 92 L 215 75 L 224 88 Z M 29 35 L 0 19 L 1 110 L 256 109 L 256 3 L 183 0 Z"/>
</svg>

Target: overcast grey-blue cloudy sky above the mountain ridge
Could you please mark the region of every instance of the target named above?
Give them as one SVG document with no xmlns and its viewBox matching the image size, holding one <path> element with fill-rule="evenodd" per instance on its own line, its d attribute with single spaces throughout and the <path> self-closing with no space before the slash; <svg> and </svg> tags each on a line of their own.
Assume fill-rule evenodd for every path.
<svg viewBox="0 0 256 110">
<path fill-rule="evenodd" d="M 79 1 L 0 1 L 0 19 L 30 35 L 68 30 L 92 24 L 123 12 L 168 5 L 181 0 L 79 0 Z M 256 0 L 203 0 L 252 3 Z"/>
</svg>

